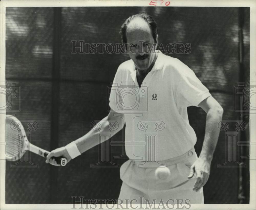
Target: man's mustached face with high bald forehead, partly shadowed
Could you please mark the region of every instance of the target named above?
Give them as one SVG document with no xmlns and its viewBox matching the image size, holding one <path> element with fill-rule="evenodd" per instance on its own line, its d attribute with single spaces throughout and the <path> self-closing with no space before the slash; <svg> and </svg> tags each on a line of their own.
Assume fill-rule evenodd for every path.
<svg viewBox="0 0 256 210">
<path fill-rule="evenodd" d="M 148 69 L 155 58 L 154 49 L 157 45 L 147 22 L 141 18 L 133 19 L 127 25 L 126 37 L 129 56 L 137 69 Z"/>
</svg>

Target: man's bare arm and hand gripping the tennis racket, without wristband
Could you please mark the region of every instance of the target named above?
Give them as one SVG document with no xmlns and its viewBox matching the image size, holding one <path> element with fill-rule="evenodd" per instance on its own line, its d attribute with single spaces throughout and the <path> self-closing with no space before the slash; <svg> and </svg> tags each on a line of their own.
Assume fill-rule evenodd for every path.
<svg viewBox="0 0 256 210">
<path fill-rule="evenodd" d="M 111 136 L 118 133 L 124 126 L 124 114 L 117 113 L 111 110 L 108 116 L 104 117 L 98 124 L 101 129 L 91 129 L 86 135 L 75 140 L 76 146 L 80 153 L 83 153 L 92 147 L 98 145 L 99 142 L 99 132 L 109 131 L 109 124 L 116 123 L 118 128 L 116 130 L 111 130 Z M 107 140 L 107 139 L 106 139 Z M 67 159 L 67 162 L 71 160 L 71 157 L 65 147 L 60 147 L 52 150 L 49 155 L 47 155 L 46 163 L 59 166 L 55 160 L 51 157 L 63 156 Z"/>
</svg>

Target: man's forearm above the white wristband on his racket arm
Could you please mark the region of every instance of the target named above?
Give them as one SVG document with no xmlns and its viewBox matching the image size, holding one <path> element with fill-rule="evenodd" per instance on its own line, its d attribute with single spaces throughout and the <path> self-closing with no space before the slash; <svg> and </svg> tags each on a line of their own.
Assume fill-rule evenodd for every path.
<svg viewBox="0 0 256 210">
<path fill-rule="evenodd" d="M 109 132 L 109 121 L 108 116 L 104 117 L 98 124 L 100 124 L 101 129 L 91 129 L 86 135 L 75 140 L 78 150 L 80 153 L 83 153 L 92 147 L 98 145 L 99 143 L 99 133 L 100 132 Z M 111 130 L 111 136 L 114 136 L 118 133 L 123 126 L 119 126 L 116 130 Z M 105 139 L 108 140 L 108 139 Z"/>
</svg>

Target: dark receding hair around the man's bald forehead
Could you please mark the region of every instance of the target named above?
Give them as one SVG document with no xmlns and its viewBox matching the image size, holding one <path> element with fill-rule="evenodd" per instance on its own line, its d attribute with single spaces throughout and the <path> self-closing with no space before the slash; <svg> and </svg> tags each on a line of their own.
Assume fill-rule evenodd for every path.
<svg viewBox="0 0 256 210">
<path fill-rule="evenodd" d="M 147 22 L 147 24 L 149 25 L 151 32 L 152 32 L 152 36 L 155 40 L 156 43 L 156 35 L 157 35 L 157 23 L 156 21 L 148 14 L 146 13 L 140 13 L 140 14 L 136 14 L 133 16 L 130 16 L 129 18 L 127 18 L 124 23 L 121 26 L 121 30 L 120 30 L 120 34 L 121 34 L 121 38 L 124 44 L 127 43 L 127 37 L 126 37 L 126 29 L 127 29 L 127 25 L 129 24 L 129 22 L 131 20 L 133 20 L 134 18 L 142 18 L 143 20 L 145 20 Z"/>
</svg>

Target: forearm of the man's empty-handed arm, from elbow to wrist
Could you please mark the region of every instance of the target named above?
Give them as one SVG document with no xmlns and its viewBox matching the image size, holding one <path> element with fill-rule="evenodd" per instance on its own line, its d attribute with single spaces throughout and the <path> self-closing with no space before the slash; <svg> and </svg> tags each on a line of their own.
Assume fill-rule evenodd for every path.
<svg viewBox="0 0 256 210">
<path fill-rule="evenodd" d="M 200 158 L 211 161 L 213 157 L 214 150 L 217 145 L 220 130 L 218 128 L 218 123 L 222 119 L 223 109 L 211 108 L 207 112 L 206 116 L 206 127 L 205 127 L 205 138 L 202 146 L 202 151 L 200 153 Z"/>
</svg>

